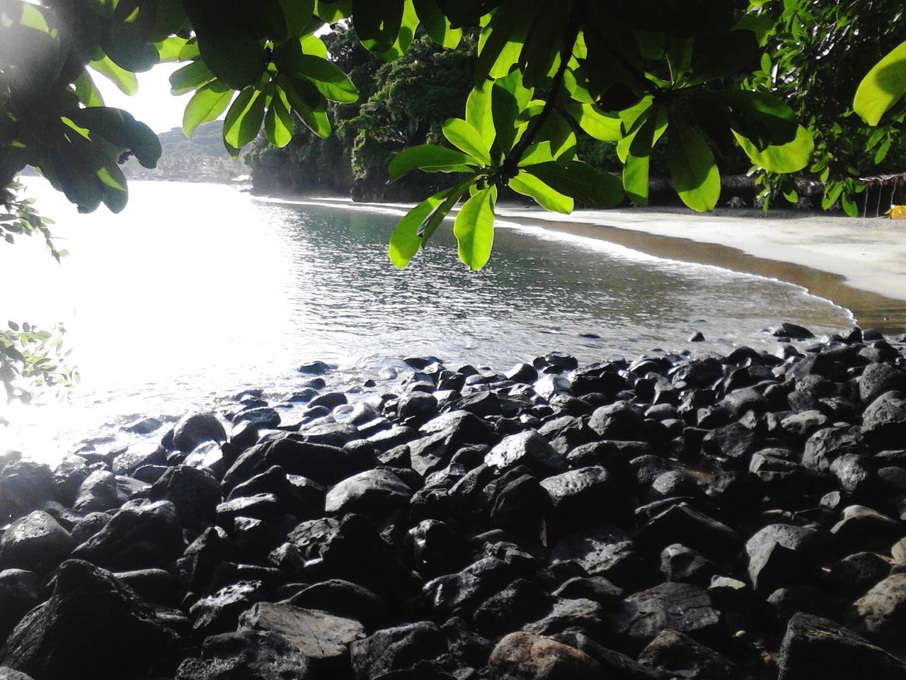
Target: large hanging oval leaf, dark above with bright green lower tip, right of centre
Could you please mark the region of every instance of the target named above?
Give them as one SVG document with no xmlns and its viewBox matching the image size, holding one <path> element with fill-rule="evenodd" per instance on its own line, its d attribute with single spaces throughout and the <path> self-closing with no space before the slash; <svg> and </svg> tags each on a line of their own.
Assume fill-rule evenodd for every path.
<svg viewBox="0 0 906 680">
<path fill-rule="evenodd" d="M 682 202 L 697 212 L 714 209 L 720 197 L 718 164 L 708 142 L 679 116 L 670 117 L 667 159 Z"/>
</svg>

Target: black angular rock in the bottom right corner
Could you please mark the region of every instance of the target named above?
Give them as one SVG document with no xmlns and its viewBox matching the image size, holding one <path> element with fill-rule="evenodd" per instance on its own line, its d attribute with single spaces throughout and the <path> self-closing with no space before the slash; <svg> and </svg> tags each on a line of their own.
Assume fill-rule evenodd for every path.
<svg viewBox="0 0 906 680">
<path fill-rule="evenodd" d="M 901 661 L 849 628 L 809 614 L 793 615 L 780 646 L 777 680 L 906 678 Z"/>
</svg>

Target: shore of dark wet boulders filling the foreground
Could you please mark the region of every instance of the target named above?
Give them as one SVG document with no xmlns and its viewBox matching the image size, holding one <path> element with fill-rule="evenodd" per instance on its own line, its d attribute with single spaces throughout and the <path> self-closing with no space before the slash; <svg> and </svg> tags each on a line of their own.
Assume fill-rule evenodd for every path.
<svg viewBox="0 0 906 680">
<path fill-rule="evenodd" d="M 906 357 L 776 335 L 5 454 L 0 679 L 906 679 Z"/>
</svg>

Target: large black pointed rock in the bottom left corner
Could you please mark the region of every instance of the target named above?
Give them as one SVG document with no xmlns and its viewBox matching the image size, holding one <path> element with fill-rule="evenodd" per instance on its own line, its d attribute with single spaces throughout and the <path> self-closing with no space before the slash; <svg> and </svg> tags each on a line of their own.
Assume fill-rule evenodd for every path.
<svg viewBox="0 0 906 680">
<path fill-rule="evenodd" d="M 109 571 L 63 562 L 53 595 L 15 627 L 0 650 L 0 665 L 43 678 L 146 675 L 172 650 L 177 635 L 154 610 Z"/>
</svg>

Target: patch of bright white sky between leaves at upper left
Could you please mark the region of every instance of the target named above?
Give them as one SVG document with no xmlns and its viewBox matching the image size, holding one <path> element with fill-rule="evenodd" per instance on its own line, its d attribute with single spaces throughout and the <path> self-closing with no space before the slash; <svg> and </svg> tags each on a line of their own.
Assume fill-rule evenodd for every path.
<svg viewBox="0 0 906 680">
<path fill-rule="evenodd" d="M 137 120 L 149 125 L 155 132 L 166 132 L 182 126 L 182 112 L 192 93 L 179 97 L 169 93 L 169 74 L 185 63 L 161 63 L 147 73 L 137 73 L 139 92 L 130 97 L 100 73 L 92 73 L 94 83 L 101 91 L 104 104 L 125 109 Z"/>
</svg>

